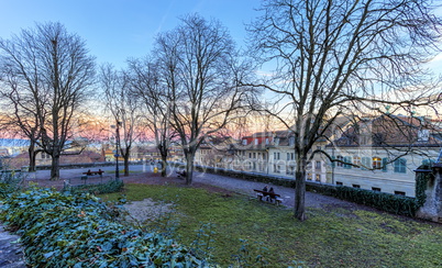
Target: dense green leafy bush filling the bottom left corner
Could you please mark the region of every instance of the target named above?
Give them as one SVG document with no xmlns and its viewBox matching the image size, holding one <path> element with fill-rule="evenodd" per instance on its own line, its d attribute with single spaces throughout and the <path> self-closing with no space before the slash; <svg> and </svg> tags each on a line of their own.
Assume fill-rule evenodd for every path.
<svg viewBox="0 0 442 268">
<path fill-rule="evenodd" d="M 0 220 L 19 230 L 31 266 L 209 266 L 170 237 L 115 222 L 118 210 L 88 193 L 32 189 L 8 197 L 0 212 Z"/>
</svg>

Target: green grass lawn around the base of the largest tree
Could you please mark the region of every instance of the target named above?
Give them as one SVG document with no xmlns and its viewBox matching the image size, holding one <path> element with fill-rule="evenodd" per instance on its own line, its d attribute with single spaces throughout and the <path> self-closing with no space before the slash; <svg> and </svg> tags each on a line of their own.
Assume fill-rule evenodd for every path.
<svg viewBox="0 0 442 268">
<path fill-rule="evenodd" d="M 268 267 L 441 267 L 442 225 L 386 213 L 340 208 L 308 209 L 299 222 L 291 210 L 262 203 L 245 196 L 225 197 L 202 189 L 126 185 L 128 201 L 152 198 L 176 204 L 176 238 L 190 245 L 203 224 L 212 261 L 226 267 L 258 267 L 263 255 Z M 121 193 L 103 194 L 114 200 Z M 147 226 L 158 226 L 159 222 Z M 211 231 L 214 232 L 211 234 Z M 206 237 L 207 238 L 207 237 Z M 209 241 L 207 238 L 207 241 Z M 240 250 L 243 248 L 243 250 Z M 237 258 L 236 258 L 237 259 Z"/>
</svg>

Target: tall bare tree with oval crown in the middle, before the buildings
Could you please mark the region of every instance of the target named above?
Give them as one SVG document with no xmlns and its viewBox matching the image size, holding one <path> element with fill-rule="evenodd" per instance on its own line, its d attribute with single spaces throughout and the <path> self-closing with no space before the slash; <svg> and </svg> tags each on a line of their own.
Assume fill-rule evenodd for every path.
<svg viewBox="0 0 442 268">
<path fill-rule="evenodd" d="M 250 91 L 239 87 L 245 65 L 228 31 L 214 20 L 188 15 L 156 40 L 156 55 L 169 92 L 172 125 L 186 156 L 186 183 L 192 182 L 195 153 L 205 135 L 222 129 Z"/>
</svg>

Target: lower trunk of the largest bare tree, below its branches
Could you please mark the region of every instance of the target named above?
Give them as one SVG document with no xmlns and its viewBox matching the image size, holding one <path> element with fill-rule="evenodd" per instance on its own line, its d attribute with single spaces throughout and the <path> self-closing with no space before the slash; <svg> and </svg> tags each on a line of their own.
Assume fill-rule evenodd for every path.
<svg viewBox="0 0 442 268">
<path fill-rule="evenodd" d="M 299 221 L 307 220 L 306 216 L 306 169 L 307 159 L 298 159 L 296 168 L 296 189 L 295 189 L 295 217 Z"/>
</svg>

